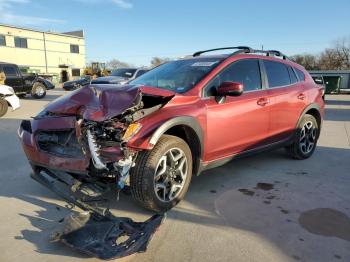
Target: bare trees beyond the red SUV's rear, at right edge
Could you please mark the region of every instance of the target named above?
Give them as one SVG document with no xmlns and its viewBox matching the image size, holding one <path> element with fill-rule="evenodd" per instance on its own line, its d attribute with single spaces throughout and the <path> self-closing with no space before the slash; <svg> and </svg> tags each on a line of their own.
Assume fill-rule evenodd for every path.
<svg viewBox="0 0 350 262">
<path fill-rule="evenodd" d="M 298 54 L 291 59 L 306 70 L 350 70 L 350 37 L 335 41 L 319 54 Z"/>
</svg>

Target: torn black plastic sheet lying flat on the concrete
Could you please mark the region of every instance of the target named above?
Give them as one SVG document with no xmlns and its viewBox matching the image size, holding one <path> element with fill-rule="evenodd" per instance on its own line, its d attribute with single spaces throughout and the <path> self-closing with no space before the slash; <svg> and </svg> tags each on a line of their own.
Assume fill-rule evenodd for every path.
<svg viewBox="0 0 350 262">
<path fill-rule="evenodd" d="M 72 214 L 64 229 L 54 239 L 100 259 L 116 259 L 145 252 L 163 216 L 155 215 L 145 222 L 129 218 L 100 217 L 94 213 Z"/>
</svg>

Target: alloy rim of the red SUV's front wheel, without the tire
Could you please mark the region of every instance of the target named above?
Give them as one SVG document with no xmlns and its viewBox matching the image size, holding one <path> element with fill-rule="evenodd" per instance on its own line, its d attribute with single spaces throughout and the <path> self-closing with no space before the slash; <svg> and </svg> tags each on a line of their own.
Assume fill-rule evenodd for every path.
<svg viewBox="0 0 350 262">
<path fill-rule="evenodd" d="M 158 161 L 154 192 L 162 202 L 171 202 L 182 191 L 187 177 L 187 157 L 179 148 L 168 150 Z"/>
</svg>

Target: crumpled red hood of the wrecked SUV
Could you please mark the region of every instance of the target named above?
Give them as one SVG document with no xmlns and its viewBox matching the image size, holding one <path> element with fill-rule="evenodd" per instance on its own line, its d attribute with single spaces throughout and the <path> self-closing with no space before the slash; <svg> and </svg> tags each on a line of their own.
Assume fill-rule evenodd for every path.
<svg viewBox="0 0 350 262">
<path fill-rule="evenodd" d="M 86 120 L 100 122 L 137 105 L 141 95 L 169 98 L 175 92 L 149 86 L 88 85 L 54 100 L 45 110 L 55 114 L 82 114 Z"/>
</svg>

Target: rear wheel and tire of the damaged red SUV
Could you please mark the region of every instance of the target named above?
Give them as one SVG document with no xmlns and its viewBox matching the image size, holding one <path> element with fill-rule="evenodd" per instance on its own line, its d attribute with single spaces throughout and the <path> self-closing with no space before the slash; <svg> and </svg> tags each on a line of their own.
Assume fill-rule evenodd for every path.
<svg viewBox="0 0 350 262">
<path fill-rule="evenodd" d="M 303 129 L 305 129 L 306 132 Z M 312 129 L 314 129 L 314 131 L 309 131 L 308 133 L 307 130 Z M 296 130 L 293 143 L 285 147 L 287 152 L 294 159 L 303 160 L 309 158 L 316 149 L 319 132 L 319 126 L 315 117 L 309 114 L 304 115 Z M 312 143 L 313 146 L 311 145 Z"/>
</svg>

